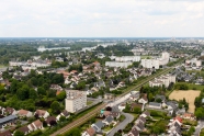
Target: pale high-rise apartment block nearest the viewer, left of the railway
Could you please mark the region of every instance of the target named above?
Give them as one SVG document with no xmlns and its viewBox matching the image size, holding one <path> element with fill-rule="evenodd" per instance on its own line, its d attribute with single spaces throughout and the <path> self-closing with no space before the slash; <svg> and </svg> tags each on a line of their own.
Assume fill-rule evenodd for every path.
<svg viewBox="0 0 204 136">
<path fill-rule="evenodd" d="M 87 106 L 87 93 L 78 90 L 67 90 L 65 99 L 65 110 L 75 113 Z"/>
</svg>

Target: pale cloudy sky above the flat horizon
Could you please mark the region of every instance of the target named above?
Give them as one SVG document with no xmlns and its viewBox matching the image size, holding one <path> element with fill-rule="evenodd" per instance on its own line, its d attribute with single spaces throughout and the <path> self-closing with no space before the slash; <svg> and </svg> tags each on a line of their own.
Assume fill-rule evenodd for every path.
<svg viewBox="0 0 204 136">
<path fill-rule="evenodd" d="M 204 0 L 0 0 L 0 37 L 204 37 Z"/>
</svg>

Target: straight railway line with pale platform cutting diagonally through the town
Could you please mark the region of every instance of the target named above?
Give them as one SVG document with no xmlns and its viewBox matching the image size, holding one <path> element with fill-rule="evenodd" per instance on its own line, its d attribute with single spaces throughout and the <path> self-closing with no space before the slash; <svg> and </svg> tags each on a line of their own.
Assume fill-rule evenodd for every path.
<svg viewBox="0 0 204 136">
<path fill-rule="evenodd" d="M 128 89 L 125 90 L 125 92 L 123 94 L 116 97 L 114 99 L 114 102 L 111 102 L 109 105 L 114 106 L 114 105 L 121 103 L 122 101 L 125 101 L 126 100 L 126 95 L 129 95 L 131 91 L 139 89 L 141 86 L 146 84 L 150 80 L 152 80 L 152 79 L 155 79 L 155 78 L 157 78 L 157 77 L 159 77 L 161 75 L 166 75 L 166 73 L 168 73 L 171 70 L 172 70 L 172 68 L 162 69 L 162 71 L 159 71 L 158 73 L 151 75 L 147 79 L 144 79 L 144 80 L 139 81 L 136 86 L 129 87 Z M 106 105 L 107 105 L 107 103 L 103 103 L 102 105 L 99 105 L 97 109 L 94 109 L 90 113 L 87 113 L 84 116 L 73 121 L 72 123 L 67 124 L 65 127 L 63 127 L 59 131 L 55 132 L 50 136 L 57 136 L 59 134 L 64 134 L 64 133 L 70 131 L 73 127 L 80 126 L 81 124 L 83 124 L 84 122 L 87 122 L 91 117 L 93 117 L 95 115 L 95 113 L 98 113 L 101 109 L 104 109 Z"/>
</svg>

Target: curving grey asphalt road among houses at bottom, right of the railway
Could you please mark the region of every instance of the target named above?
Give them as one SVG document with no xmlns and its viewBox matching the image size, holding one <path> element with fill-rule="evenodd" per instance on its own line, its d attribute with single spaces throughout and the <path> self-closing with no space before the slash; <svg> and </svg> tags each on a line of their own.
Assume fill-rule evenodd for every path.
<svg viewBox="0 0 204 136">
<path fill-rule="evenodd" d="M 118 112 L 120 110 L 117 109 L 117 106 L 114 106 L 113 111 Z M 125 120 L 120 124 L 117 124 L 106 136 L 114 136 L 116 132 L 118 132 L 120 129 L 124 129 L 128 123 L 133 122 L 134 116 L 132 114 L 123 113 L 123 112 L 121 112 L 121 114 L 125 116 Z"/>
</svg>

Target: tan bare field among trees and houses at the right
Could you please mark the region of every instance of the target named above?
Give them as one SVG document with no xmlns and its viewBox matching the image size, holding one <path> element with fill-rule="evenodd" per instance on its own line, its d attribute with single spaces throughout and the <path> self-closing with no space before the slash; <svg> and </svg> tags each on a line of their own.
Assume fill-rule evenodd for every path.
<svg viewBox="0 0 204 136">
<path fill-rule="evenodd" d="M 194 105 L 194 101 L 195 98 L 199 97 L 201 93 L 200 90 L 174 90 L 170 95 L 169 99 L 170 100 L 183 100 L 183 98 L 185 98 L 186 102 L 189 103 L 189 112 L 194 113 L 195 111 L 195 105 Z"/>
</svg>

